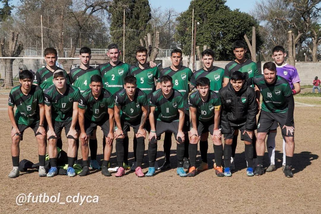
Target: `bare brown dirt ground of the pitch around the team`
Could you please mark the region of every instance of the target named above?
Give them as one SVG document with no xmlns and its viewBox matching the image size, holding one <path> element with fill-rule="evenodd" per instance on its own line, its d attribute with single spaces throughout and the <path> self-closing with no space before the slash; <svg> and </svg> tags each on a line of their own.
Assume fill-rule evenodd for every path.
<svg viewBox="0 0 321 214">
<path fill-rule="evenodd" d="M 238 141 L 236 170 L 232 177 L 218 178 L 213 170 L 213 146 L 209 145 L 208 159 L 210 169 L 192 178 L 180 178 L 176 175 L 176 145 L 171 148 L 172 169 L 158 171 L 154 177 L 138 178 L 133 172 L 126 171 L 121 178 L 104 177 L 100 171 L 92 171 L 86 177 L 56 176 L 40 178 L 37 171 L 20 173 L 18 178 L 8 178 L 12 169 L 10 154 L 11 124 L 7 114 L 8 95 L 0 95 L 1 143 L 0 165 L 0 212 L 89 212 L 89 213 L 320 213 L 321 162 L 320 149 L 320 105 L 305 104 L 309 99 L 300 99 L 295 108 L 295 155 L 293 159 L 294 178 L 286 178 L 282 173 L 282 137 L 280 131 L 276 137 L 277 170 L 262 176 L 247 177 L 244 156 L 244 143 Z M 314 98 L 316 99 L 316 98 Z M 317 99 L 319 102 L 321 98 Z M 295 99 L 297 101 L 297 99 Z M 99 129 L 98 129 L 99 130 Z M 98 139 L 102 132 L 97 131 Z M 133 132 L 130 132 L 130 137 Z M 162 136 L 163 139 L 163 136 Z M 66 138 L 63 138 L 66 149 Z M 130 138 L 131 142 L 131 138 Z M 174 139 L 173 139 L 173 142 Z M 210 141 L 209 141 L 210 142 Z M 147 140 L 145 141 L 143 171 L 148 168 Z M 20 160 L 38 162 L 37 144 L 31 129 L 24 133 L 20 144 Z M 163 141 L 159 141 L 158 163 L 164 162 L 162 156 Z M 129 148 L 129 162 L 133 162 L 132 144 Z M 102 159 L 102 143 L 99 140 L 98 158 Z M 78 159 L 81 159 L 79 151 Z M 100 161 L 102 162 L 102 161 Z M 115 166 L 115 147 L 111 162 Z M 201 163 L 197 155 L 197 165 Z M 264 166 L 268 166 L 265 153 Z M 32 193 L 58 196 L 60 203 L 24 203 L 16 204 L 19 194 Z M 97 195 L 97 203 L 66 202 L 68 195 L 80 193 L 84 196 Z M 52 197 L 54 201 L 54 198 Z M 75 198 L 76 200 L 76 198 Z"/>
</svg>

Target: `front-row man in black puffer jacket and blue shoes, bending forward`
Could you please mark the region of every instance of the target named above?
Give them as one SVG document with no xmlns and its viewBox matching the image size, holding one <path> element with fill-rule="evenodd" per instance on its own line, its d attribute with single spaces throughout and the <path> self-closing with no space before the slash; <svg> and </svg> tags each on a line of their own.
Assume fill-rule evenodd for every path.
<svg viewBox="0 0 321 214">
<path fill-rule="evenodd" d="M 247 73 L 235 71 L 230 77 L 230 82 L 219 91 L 223 107 L 221 128 L 224 134 L 224 175 L 227 177 L 232 176 L 230 159 L 235 130 L 241 132 L 241 140 L 245 143 L 247 176 L 254 176 L 252 139 L 256 129 L 257 102 L 255 91 L 247 84 L 247 79 Z"/>
</svg>

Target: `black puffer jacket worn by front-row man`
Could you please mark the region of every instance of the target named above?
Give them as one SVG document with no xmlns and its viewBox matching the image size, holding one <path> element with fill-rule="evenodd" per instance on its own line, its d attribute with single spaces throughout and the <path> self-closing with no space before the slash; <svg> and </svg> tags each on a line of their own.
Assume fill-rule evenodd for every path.
<svg viewBox="0 0 321 214">
<path fill-rule="evenodd" d="M 255 90 L 248 86 L 247 81 L 239 92 L 235 92 L 229 82 L 221 88 L 219 95 L 222 100 L 221 128 L 222 133 L 231 133 L 231 126 L 244 125 L 246 131 L 256 129 L 257 102 Z"/>
</svg>

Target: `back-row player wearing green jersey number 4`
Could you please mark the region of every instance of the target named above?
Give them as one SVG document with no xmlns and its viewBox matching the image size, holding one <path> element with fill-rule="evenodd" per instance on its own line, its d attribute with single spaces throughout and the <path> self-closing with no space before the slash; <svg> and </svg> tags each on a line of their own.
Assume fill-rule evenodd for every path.
<svg viewBox="0 0 321 214">
<path fill-rule="evenodd" d="M 76 86 L 80 92 L 84 92 L 89 89 L 90 78 L 92 75 L 100 75 L 100 71 L 96 68 L 90 66 L 91 50 L 88 47 L 82 47 L 79 50 L 80 66 L 72 69 L 69 73 L 70 81 Z M 96 130 L 89 138 L 89 148 L 90 148 L 90 167 L 93 169 L 100 169 L 100 165 L 97 162 L 97 138 Z M 79 147 L 79 139 L 77 139 L 77 150 Z"/>
</svg>

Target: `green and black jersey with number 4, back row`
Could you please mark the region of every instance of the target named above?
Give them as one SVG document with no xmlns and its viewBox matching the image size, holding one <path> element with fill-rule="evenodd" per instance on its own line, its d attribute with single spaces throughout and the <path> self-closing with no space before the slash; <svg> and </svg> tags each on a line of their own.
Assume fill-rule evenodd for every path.
<svg viewBox="0 0 321 214">
<path fill-rule="evenodd" d="M 86 70 L 77 67 L 70 71 L 69 78 L 73 86 L 76 86 L 82 93 L 89 89 L 90 78 L 92 75 L 100 75 L 100 71 L 93 67 L 89 67 Z"/>
</svg>

